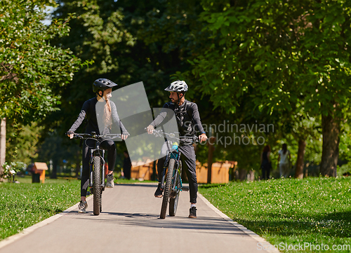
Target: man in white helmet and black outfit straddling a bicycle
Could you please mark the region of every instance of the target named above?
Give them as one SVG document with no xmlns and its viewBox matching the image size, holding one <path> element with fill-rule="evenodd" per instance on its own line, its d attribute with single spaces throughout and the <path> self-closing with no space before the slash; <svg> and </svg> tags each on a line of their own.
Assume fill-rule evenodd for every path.
<svg viewBox="0 0 351 253">
<path fill-rule="evenodd" d="M 206 132 L 201 125 L 201 120 L 199 116 L 199 111 L 197 109 L 197 104 L 185 100 L 185 93 L 187 92 L 187 83 L 185 81 L 174 81 L 166 89 L 170 92 L 169 98 L 171 102 L 164 104 L 164 109 L 161 110 L 161 113 L 155 118 L 152 123 L 147 127 L 147 132 L 152 134 L 154 128 L 157 125 L 160 125 L 164 118 L 167 116 L 167 110 L 171 109 L 176 115 L 176 121 L 178 125 L 178 130 L 180 136 L 194 137 L 196 135 L 195 127 L 200 132 L 199 135 L 200 142 L 204 142 L 207 139 Z M 157 190 L 154 193 L 156 198 L 162 197 L 161 189 L 161 177 L 164 167 L 164 162 L 166 160 L 166 151 L 168 149 L 167 142 L 161 148 L 161 155 L 157 163 L 157 172 L 159 175 L 159 184 Z M 187 178 L 189 180 L 189 189 L 190 189 L 190 214 L 189 218 L 197 217 L 197 175 L 196 175 L 196 156 L 194 151 L 194 146 L 192 146 L 192 140 L 184 139 L 180 140 L 179 150 L 182 152 L 183 166 L 186 168 Z"/>
</svg>

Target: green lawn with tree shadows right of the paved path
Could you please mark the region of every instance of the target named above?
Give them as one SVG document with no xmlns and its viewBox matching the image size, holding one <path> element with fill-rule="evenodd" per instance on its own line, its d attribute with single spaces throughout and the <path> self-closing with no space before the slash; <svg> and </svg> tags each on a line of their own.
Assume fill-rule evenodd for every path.
<svg viewBox="0 0 351 253">
<path fill-rule="evenodd" d="M 351 177 L 233 182 L 199 191 L 281 252 L 326 252 L 317 250 L 322 244 L 351 247 Z M 300 250 L 294 246 L 299 243 L 310 247 Z M 298 250 L 286 250 L 289 245 Z"/>
</svg>

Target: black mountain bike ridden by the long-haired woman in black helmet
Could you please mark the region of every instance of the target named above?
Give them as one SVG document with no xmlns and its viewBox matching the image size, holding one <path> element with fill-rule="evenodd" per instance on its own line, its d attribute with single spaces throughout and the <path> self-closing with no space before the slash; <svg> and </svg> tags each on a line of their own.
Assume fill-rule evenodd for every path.
<svg viewBox="0 0 351 253">
<path fill-rule="evenodd" d="M 100 144 L 108 139 L 121 138 L 121 134 L 96 135 L 91 134 L 73 135 L 76 139 L 95 140 L 95 147 L 91 148 L 91 156 L 89 162 L 89 189 L 93 193 L 93 213 L 99 215 L 102 212 L 102 191 L 105 191 L 105 150 L 100 148 Z M 88 146 L 88 145 L 87 145 Z"/>
</svg>

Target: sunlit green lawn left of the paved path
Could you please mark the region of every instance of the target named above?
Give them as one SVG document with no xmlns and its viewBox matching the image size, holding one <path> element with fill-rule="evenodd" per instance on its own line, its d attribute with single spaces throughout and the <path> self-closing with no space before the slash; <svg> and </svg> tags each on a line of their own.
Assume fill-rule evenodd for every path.
<svg viewBox="0 0 351 253">
<path fill-rule="evenodd" d="M 79 202 L 77 179 L 45 179 L 45 184 L 32 184 L 31 177 L 15 179 L 20 184 L 0 184 L 0 240 Z"/>
</svg>

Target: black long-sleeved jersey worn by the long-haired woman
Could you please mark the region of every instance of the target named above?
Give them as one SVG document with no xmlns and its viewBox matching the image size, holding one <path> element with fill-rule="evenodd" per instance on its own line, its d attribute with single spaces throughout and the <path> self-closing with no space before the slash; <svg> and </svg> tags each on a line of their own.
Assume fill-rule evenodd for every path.
<svg viewBox="0 0 351 253">
<path fill-rule="evenodd" d="M 119 125 L 119 128 L 121 129 L 121 133 L 127 132 L 126 128 L 124 128 L 123 123 L 121 123 L 121 121 L 119 120 L 116 104 L 110 101 L 110 105 L 111 105 L 111 113 L 112 113 L 112 122 L 117 123 Z M 90 100 L 86 100 L 86 102 L 84 102 L 83 104 L 83 107 L 81 108 L 81 112 L 77 120 L 73 123 L 69 131 L 75 132 L 79 128 L 79 125 L 81 125 L 81 123 L 84 121 L 84 118 L 86 118 L 87 125 L 86 125 L 85 133 L 96 132 L 97 135 L 100 135 L 98 118 L 99 118 L 99 122 L 102 123 L 104 107 L 105 107 L 105 101 L 98 102 L 97 97 L 93 97 Z M 110 133 L 109 128 L 105 128 L 101 134 L 107 134 L 107 133 Z"/>
</svg>

